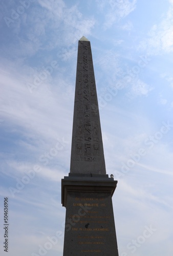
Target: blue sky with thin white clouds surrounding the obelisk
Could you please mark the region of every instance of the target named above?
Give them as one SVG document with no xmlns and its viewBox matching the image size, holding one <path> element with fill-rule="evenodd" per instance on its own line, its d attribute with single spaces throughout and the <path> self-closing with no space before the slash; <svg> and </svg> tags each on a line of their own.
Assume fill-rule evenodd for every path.
<svg viewBox="0 0 173 256">
<path fill-rule="evenodd" d="M 78 40 L 91 41 L 119 256 L 172 256 L 173 0 L 1 1 L 0 242 L 61 256 Z M 54 243 L 51 238 L 54 237 Z"/>
</svg>

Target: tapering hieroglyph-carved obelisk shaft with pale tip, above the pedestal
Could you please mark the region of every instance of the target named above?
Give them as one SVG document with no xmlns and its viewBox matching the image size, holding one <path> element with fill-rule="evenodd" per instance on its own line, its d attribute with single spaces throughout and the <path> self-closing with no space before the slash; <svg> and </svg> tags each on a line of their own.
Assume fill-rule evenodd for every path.
<svg viewBox="0 0 173 256">
<path fill-rule="evenodd" d="M 78 42 L 70 173 L 106 174 L 90 41 Z"/>
</svg>

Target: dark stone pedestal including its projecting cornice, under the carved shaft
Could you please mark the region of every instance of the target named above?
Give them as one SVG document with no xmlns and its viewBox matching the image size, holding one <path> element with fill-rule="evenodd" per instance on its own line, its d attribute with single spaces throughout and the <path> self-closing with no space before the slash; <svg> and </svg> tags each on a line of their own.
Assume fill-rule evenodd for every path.
<svg viewBox="0 0 173 256">
<path fill-rule="evenodd" d="M 62 179 L 63 256 L 118 256 L 112 206 L 117 181 L 108 175 L 69 175 Z"/>
</svg>

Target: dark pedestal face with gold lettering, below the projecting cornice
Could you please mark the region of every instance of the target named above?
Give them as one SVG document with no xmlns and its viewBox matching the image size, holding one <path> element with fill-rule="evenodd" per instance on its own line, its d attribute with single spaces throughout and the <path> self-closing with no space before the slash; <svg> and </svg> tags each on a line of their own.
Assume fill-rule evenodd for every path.
<svg viewBox="0 0 173 256">
<path fill-rule="evenodd" d="M 118 256 L 110 193 L 69 192 L 63 256 Z"/>
</svg>

